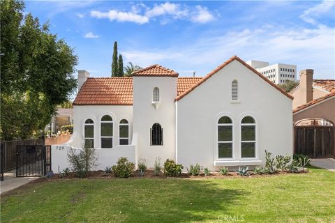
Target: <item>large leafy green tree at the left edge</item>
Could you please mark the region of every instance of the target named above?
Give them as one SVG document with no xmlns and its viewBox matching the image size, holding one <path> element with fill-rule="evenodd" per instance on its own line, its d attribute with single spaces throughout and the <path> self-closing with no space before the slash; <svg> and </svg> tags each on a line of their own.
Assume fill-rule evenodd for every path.
<svg viewBox="0 0 335 223">
<path fill-rule="evenodd" d="M 0 1 L 1 138 L 27 138 L 50 123 L 77 87 L 77 56 L 22 1 Z"/>
</svg>

